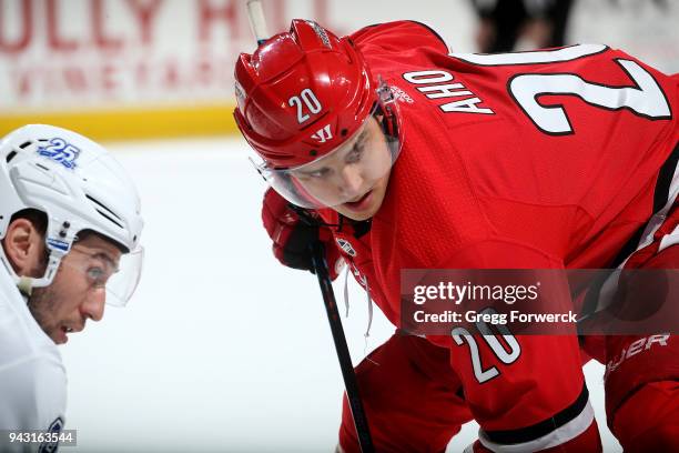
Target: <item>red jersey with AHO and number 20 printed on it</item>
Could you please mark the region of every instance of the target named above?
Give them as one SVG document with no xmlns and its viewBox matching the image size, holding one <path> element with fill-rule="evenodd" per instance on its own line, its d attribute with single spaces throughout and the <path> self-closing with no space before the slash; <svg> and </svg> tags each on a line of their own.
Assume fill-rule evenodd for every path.
<svg viewBox="0 0 679 453">
<path fill-rule="evenodd" d="M 416 22 L 352 39 L 398 97 L 404 139 L 369 232 L 334 234 L 395 325 L 402 269 L 607 268 L 652 214 L 679 78 L 605 46 L 450 54 Z M 470 345 L 430 340 L 450 349 L 482 439 L 556 439 L 558 417 L 572 439 L 591 423 L 575 336 L 520 338 L 510 364 L 479 341 L 482 370 L 498 372 L 484 382 Z"/>
</svg>

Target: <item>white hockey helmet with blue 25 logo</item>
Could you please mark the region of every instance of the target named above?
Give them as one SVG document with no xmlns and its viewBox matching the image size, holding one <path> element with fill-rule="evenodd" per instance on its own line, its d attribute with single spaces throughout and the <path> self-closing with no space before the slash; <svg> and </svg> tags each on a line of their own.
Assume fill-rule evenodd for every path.
<svg viewBox="0 0 679 453">
<path fill-rule="evenodd" d="M 128 302 L 141 276 L 143 220 L 132 180 L 103 147 L 52 125 L 19 128 L 0 142 L 0 240 L 19 211 L 34 209 L 48 219 L 50 255 L 42 278 L 18 276 L 0 246 L 0 260 L 18 284 L 51 284 L 78 232 L 91 230 L 126 252 L 107 283 L 107 302 Z"/>
</svg>

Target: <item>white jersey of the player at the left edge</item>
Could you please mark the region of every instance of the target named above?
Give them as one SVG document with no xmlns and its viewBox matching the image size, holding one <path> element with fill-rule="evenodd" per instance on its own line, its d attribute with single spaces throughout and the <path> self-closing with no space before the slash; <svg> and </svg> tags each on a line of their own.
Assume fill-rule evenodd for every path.
<svg viewBox="0 0 679 453">
<path fill-rule="evenodd" d="M 67 378 L 54 342 L 40 329 L 4 269 L 0 269 L 0 430 L 58 432 L 63 427 Z M 0 452 L 52 451 L 9 442 Z"/>
</svg>

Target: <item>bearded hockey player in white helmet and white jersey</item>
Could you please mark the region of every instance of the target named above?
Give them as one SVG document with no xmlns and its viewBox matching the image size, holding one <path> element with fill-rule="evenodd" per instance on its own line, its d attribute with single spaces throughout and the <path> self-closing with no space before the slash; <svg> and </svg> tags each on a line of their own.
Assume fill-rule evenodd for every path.
<svg viewBox="0 0 679 453">
<path fill-rule="evenodd" d="M 31 124 L 0 142 L 0 451 L 54 451 L 17 434 L 58 437 L 67 378 L 57 344 L 101 320 L 104 303 L 128 302 L 142 225 L 134 184 L 93 141 Z"/>
</svg>

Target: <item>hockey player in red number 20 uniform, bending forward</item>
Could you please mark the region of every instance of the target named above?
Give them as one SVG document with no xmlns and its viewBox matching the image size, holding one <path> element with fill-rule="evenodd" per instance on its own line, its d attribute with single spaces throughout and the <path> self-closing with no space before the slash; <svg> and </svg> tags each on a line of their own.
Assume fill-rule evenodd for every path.
<svg viewBox="0 0 679 453">
<path fill-rule="evenodd" d="M 402 269 L 679 264 L 679 78 L 624 52 L 450 54 L 417 22 L 340 39 L 295 20 L 235 79 L 275 255 L 311 269 L 325 241 L 397 328 Z M 377 451 L 443 452 L 472 417 L 475 452 L 601 450 L 575 334 L 517 336 L 510 361 L 474 339 L 394 335 L 357 366 Z M 679 346 L 653 344 L 610 368 L 608 424 L 629 451 L 679 451 Z M 358 450 L 346 401 L 340 445 Z"/>
</svg>

